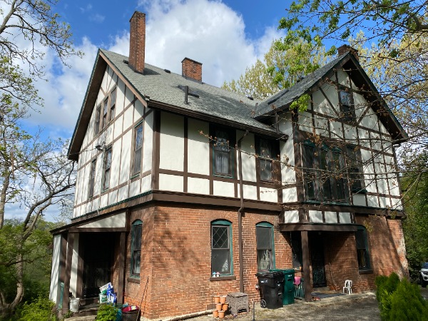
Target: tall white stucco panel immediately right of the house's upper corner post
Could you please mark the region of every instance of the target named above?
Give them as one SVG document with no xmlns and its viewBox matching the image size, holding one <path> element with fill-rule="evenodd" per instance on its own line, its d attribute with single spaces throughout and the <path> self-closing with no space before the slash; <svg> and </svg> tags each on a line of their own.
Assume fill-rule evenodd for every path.
<svg viewBox="0 0 428 321">
<path fill-rule="evenodd" d="M 184 118 L 172 113 L 161 113 L 160 140 L 159 168 L 183 171 Z"/>
</svg>

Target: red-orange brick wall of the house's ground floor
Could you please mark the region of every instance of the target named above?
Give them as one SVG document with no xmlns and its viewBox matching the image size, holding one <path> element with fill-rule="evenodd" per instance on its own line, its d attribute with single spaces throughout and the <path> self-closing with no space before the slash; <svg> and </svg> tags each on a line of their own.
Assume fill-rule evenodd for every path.
<svg viewBox="0 0 428 321">
<path fill-rule="evenodd" d="M 140 305 L 148 319 L 186 315 L 207 310 L 212 295 L 226 295 L 239 291 L 238 214 L 236 209 L 224 210 L 179 205 L 151 205 L 134 210 L 131 220 L 143 221 L 140 282 L 133 282 L 129 272 L 131 240 L 128 236 L 126 258 L 125 302 Z M 235 280 L 210 280 L 211 249 L 210 223 L 213 220 L 232 223 L 233 274 Z M 355 247 L 355 234 L 322 232 L 325 248 L 325 272 L 327 285 L 342 291 L 345 280 L 354 282 L 353 290 L 360 292 L 374 288 L 377 274 L 389 274 L 392 270 L 404 271 L 405 257 L 402 246 L 402 230 L 399 220 L 357 217 L 357 222 L 370 220 L 375 228 L 368 233 L 370 257 L 374 273 L 360 274 Z M 292 266 L 290 235 L 280 233 L 276 213 L 250 212 L 243 215 L 243 271 L 244 292 L 249 302 L 260 300 L 255 285 L 258 280 L 255 225 L 268 222 L 275 230 L 276 267 Z M 313 232 L 317 233 L 317 232 Z M 297 273 L 298 274 L 298 273 Z M 148 278 L 148 283 L 146 284 Z M 134 280 L 135 281 L 135 280 Z"/>
</svg>

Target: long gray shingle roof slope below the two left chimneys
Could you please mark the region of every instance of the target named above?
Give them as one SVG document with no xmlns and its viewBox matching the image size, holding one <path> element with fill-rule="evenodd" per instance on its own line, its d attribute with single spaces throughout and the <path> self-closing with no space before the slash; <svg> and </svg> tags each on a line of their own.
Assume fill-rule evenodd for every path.
<svg viewBox="0 0 428 321">
<path fill-rule="evenodd" d="M 218 118 L 227 119 L 246 126 L 260 128 L 265 131 L 275 132 L 271 126 L 267 126 L 255 120 L 255 104 L 258 100 L 250 100 L 238 93 L 226 91 L 222 88 L 210 86 L 207 83 L 199 83 L 186 79 L 177 73 L 168 73 L 164 69 L 151 66 L 146 63 L 144 73 L 134 72 L 126 62 L 128 57 L 111 51 L 101 52 L 113 63 L 118 71 L 131 83 L 142 96 L 150 101 L 167 103 L 183 109 L 203 113 Z M 188 104 L 184 102 L 184 91 L 179 86 L 189 86 L 191 93 L 199 97 L 188 96 Z"/>
</svg>

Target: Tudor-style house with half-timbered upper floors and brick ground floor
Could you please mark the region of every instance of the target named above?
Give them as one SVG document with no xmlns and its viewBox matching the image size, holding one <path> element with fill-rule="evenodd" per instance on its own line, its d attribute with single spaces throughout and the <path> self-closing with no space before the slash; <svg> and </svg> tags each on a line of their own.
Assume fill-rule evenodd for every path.
<svg viewBox="0 0 428 321">
<path fill-rule="evenodd" d="M 146 16 L 129 56 L 100 49 L 68 158 L 71 224 L 53 230 L 51 300 L 118 302 L 155 319 L 208 310 L 212 295 L 260 300 L 255 273 L 294 268 L 316 287 L 374 288 L 407 275 L 397 158 L 407 134 L 358 62 L 337 58 L 256 101 L 144 61 Z M 310 97 L 306 111 L 290 104 Z"/>
</svg>

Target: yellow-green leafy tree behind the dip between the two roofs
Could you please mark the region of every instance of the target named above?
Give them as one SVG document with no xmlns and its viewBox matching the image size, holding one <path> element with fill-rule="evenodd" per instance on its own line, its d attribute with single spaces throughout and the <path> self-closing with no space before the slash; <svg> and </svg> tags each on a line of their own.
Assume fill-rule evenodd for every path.
<svg viewBox="0 0 428 321">
<path fill-rule="evenodd" d="M 313 44 L 302 39 L 294 39 L 292 43 L 282 39 L 272 41 L 263 61 L 258 59 L 245 69 L 238 81 L 225 82 L 222 88 L 258 99 L 272 96 L 294 85 L 325 62 L 324 50 L 312 52 L 312 47 Z"/>
</svg>

